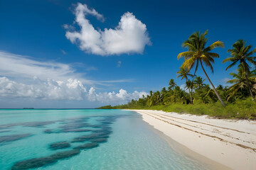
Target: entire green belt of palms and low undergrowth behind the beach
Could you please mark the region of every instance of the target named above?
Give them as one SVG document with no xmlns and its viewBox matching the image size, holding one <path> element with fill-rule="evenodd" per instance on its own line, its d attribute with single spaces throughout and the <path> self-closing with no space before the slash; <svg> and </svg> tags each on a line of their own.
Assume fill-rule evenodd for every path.
<svg viewBox="0 0 256 170">
<path fill-rule="evenodd" d="M 210 115 L 217 118 L 256 119 L 256 57 L 252 57 L 256 48 L 250 51 L 252 45 L 246 45 L 245 40 L 235 42 L 233 48 L 228 50 L 231 57 L 223 62 L 231 62 L 227 69 L 239 63 L 237 73 L 230 73 L 233 79 L 227 81 L 228 84 L 231 84 L 229 87 L 219 85 L 215 88 L 203 64 L 213 72 L 214 58 L 218 58 L 219 55 L 211 50 L 215 47 L 224 47 L 224 44 L 221 41 L 216 41 L 206 47 L 207 33 L 207 30 L 205 33 L 193 33 L 182 44 L 183 47 L 188 48 L 188 51 L 178 54 L 178 59 L 183 57 L 184 62 L 177 72 L 177 78 L 186 80 L 185 89 L 181 89 L 176 85 L 174 79 L 171 79 L 167 89 L 163 87 L 161 91 L 150 91 L 149 95 L 124 105 L 101 108 L 151 109 Z M 205 83 L 205 79 L 196 76 L 198 64 L 201 65 L 212 89 Z M 193 67 L 195 70 L 191 74 Z"/>
</svg>

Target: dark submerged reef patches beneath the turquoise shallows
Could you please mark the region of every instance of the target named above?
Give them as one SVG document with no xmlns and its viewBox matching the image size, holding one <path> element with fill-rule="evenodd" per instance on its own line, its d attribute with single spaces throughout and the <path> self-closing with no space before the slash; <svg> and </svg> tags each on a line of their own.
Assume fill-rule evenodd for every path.
<svg viewBox="0 0 256 170">
<path fill-rule="evenodd" d="M 95 125 L 87 123 L 87 120 L 90 118 L 97 118 Z M 75 155 L 80 154 L 81 150 L 92 149 L 95 147 L 99 147 L 100 143 L 107 142 L 108 137 L 112 133 L 112 128 L 110 125 L 114 123 L 114 121 L 119 118 L 119 116 L 91 116 L 84 118 L 72 118 L 66 120 L 58 120 L 56 122 L 61 125 L 56 129 L 46 129 L 43 130 L 46 134 L 55 133 L 66 133 L 66 132 L 76 132 L 78 134 L 82 134 L 83 132 L 89 132 L 89 135 L 80 135 L 78 137 L 73 137 L 70 141 L 62 141 L 62 142 L 54 142 L 48 145 L 48 149 L 58 150 L 58 149 L 67 149 L 71 147 L 72 149 L 63 152 L 57 152 L 55 154 L 50 154 L 48 157 L 39 157 L 33 159 L 22 160 L 21 162 L 16 162 L 11 169 L 13 170 L 21 170 L 21 169 L 32 169 L 38 168 L 41 166 L 49 166 L 50 164 L 54 164 L 58 162 L 60 159 L 68 159 L 70 157 L 74 157 Z M 19 125 L 29 126 L 29 127 L 41 127 L 43 125 L 49 125 L 51 122 L 33 122 L 33 123 L 19 123 Z M 6 125 L 2 128 L 9 128 L 15 126 L 17 124 Z M 1 128 L 1 127 L 0 127 Z M 28 134 L 27 134 L 28 136 Z M 23 136 L 19 136 L 25 137 Z M 18 138 L 18 137 L 17 137 Z M 15 138 L 5 138 L 5 140 L 14 140 Z M 17 139 L 18 140 L 18 139 Z M 1 142 L 1 137 L 0 137 Z M 74 142 L 82 143 L 81 145 L 72 147 Z"/>
</svg>

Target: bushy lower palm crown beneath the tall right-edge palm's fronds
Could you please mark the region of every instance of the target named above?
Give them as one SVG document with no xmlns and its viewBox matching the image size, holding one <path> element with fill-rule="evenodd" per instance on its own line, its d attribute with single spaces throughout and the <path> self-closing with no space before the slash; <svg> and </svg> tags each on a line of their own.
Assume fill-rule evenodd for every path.
<svg viewBox="0 0 256 170">
<path fill-rule="evenodd" d="M 231 80 L 227 81 L 227 83 L 233 84 L 229 88 L 232 93 L 230 94 L 228 100 L 231 97 L 233 97 L 235 94 L 237 94 L 238 91 L 242 92 L 242 89 L 245 89 L 245 87 L 247 87 L 247 81 L 249 84 L 249 89 L 251 91 L 256 92 L 256 89 L 253 88 L 253 84 L 256 83 L 256 79 L 255 79 L 256 75 L 255 74 L 247 74 L 246 75 L 244 67 L 239 67 L 237 69 L 237 71 L 238 71 L 238 74 L 230 73 L 230 75 L 233 76 L 233 78 L 235 78 L 235 79 L 231 79 Z M 243 93 L 242 93 L 242 96 L 244 96 Z"/>
</svg>

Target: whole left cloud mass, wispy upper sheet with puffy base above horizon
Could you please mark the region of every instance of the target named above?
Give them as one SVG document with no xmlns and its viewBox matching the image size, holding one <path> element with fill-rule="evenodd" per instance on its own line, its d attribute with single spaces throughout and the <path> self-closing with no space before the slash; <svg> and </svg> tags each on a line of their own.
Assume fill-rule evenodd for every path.
<svg viewBox="0 0 256 170">
<path fill-rule="evenodd" d="M 6 98 L 39 98 L 43 100 L 97 101 L 101 103 L 126 103 L 138 99 L 144 91 L 128 93 L 95 91 L 98 84 L 129 80 L 92 81 L 75 72 L 69 64 L 36 61 L 32 57 L 0 51 L 0 101 Z M 89 89 L 89 90 L 87 90 Z"/>
</svg>

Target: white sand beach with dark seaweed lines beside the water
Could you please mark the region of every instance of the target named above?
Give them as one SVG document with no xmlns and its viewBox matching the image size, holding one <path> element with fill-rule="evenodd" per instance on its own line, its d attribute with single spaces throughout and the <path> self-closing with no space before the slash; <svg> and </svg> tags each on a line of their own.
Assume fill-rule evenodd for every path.
<svg viewBox="0 0 256 170">
<path fill-rule="evenodd" d="M 208 118 L 206 115 L 132 111 L 142 114 L 146 123 L 164 135 L 214 162 L 230 169 L 256 169 L 255 120 L 223 120 Z"/>
</svg>

